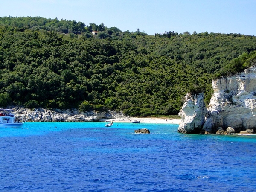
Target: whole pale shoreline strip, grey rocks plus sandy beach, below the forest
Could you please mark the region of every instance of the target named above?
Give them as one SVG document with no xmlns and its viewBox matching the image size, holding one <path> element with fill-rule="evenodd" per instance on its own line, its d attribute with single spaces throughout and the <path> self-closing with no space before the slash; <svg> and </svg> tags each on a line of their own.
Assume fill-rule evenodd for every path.
<svg viewBox="0 0 256 192">
<path fill-rule="evenodd" d="M 9 107 L 15 110 L 15 117 L 17 121 L 25 121 L 30 115 L 32 115 L 33 110 L 24 107 Z M 171 119 L 171 118 L 153 118 L 153 117 L 130 117 L 126 116 L 122 112 L 116 111 L 89 111 L 80 112 L 77 109 L 43 109 L 39 108 L 38 111 L 31 116 L 28 122 L 131 122 L 137 119 L 142 123 L 168 123 L 168 124 L 180 124 L 181 119 Z"/>
</svg>

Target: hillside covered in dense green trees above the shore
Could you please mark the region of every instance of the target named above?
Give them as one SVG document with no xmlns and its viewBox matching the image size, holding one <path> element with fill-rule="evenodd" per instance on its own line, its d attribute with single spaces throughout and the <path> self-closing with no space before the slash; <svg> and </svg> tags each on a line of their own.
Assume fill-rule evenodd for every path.
<svg viewBox="0 0 256 192">
<path fill-rule="evenodd" d="M 172 115 L 187 91 L 204 90 L 209 102 L 213 78 L 255 64 L 251 35 L 170 31 L 152 36 L 104 23 L 0 17 L 2 107 Z"/>
</svg>

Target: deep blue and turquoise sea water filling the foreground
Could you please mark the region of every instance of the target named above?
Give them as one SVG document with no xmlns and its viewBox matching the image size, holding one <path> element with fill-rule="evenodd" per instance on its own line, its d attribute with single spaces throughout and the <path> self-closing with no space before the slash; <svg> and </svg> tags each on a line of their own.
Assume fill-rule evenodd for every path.
<svg viewBox="0 0 256 192">
<path fill-rule="evenodd" d="M 0 129 L 0 191 L 256 191 L 256 135 L 104 125 L 27 122 Z M 134 134 L 138 128 L 151 134 Z"/>
</svg>

